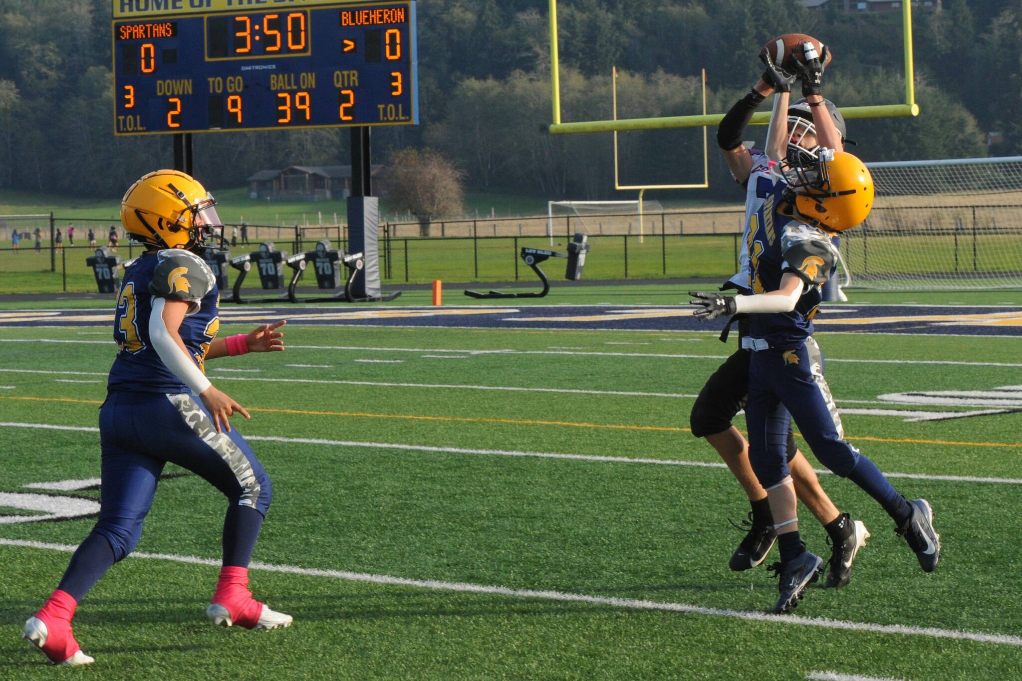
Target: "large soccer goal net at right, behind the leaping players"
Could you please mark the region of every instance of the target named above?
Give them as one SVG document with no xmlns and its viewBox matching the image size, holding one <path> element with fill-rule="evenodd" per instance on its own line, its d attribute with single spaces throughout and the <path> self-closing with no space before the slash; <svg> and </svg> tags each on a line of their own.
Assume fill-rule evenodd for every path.
<svg viewBox="0 0 1022 681">
<path fill-rule="evenodd" d="M 842 286 L 1022 286 L 1022 156 L 867 165 L 876 200 L 841 235 Z"/>
</svg>

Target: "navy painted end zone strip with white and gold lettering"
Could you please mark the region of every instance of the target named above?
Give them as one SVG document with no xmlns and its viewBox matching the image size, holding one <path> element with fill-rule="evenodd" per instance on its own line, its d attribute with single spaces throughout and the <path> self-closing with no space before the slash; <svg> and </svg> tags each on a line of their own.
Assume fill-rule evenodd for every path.
<svg viewBox="0 0 1022 681">
<path fill-rule="evenodd" d="M 612 331 L 719 331 L 700 324 L 684 305 L 530 305 L 444 307 L 246 307 L 221 308 L 224 324 L 287 320 L 297 325 L 557 329 Z M 105 327 L 113 310 L 4 310 L 0 328 Z M 1022 307 L 833 305 L 816 321 L 817 332 L 903 333 L 1022 337 Z"/>
</svg>

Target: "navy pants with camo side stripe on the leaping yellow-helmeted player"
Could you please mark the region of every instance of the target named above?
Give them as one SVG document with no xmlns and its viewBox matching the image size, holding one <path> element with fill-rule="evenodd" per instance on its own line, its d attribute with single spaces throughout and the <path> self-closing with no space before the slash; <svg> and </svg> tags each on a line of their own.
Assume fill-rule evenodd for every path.
<svg viewBox="0 0 1022 681">
<path fill-rule="evenodd" d="M 858 450 L 844 441 L 841 418 L 824 379 L 824 357 L 811 336 L 795 350 L 771 348 L 752 353 L 745 421 L 749 463 L 763 487 L 788 477 L 790 420 L 820 463 L 846 477 L 858 464 Z"/>
</svg>

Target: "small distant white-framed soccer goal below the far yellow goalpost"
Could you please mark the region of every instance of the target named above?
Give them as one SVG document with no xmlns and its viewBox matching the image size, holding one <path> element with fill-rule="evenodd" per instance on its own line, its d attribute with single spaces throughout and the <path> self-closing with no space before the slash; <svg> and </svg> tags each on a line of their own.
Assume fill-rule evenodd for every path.
<svg viewBox="0 0 1022 681">
<path fill-rule="evenodd" d="M 659 201 L 549 201 L 547 236 L 584 232 L 591 237 L 601 234 L 650 234 L 653 221 L 663 212 Z"/>
</svg>

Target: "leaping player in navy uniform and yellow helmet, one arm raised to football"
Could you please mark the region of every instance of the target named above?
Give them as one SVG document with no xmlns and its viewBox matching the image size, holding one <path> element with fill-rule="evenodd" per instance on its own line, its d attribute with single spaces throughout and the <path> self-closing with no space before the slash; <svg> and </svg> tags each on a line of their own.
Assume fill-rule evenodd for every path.
<svg viewBox="0 0 1022 681">
<path fill-rule="evenodd" d="M 817 145 L 798 145 L 778 172 L 750 176 L 749 191 L 762 198 L 749 205 L 749 286 L 751 295 L 695 293 L 694 312 L 702 320 L 749 314 L 749 463 L 766 490 L 781 562 L 775 613 L 798 603 L 818 577 L 823 558 L 805 549 L 798 532 L 797 502 L 787 460 L 787 433 L 794 418 L 817 457 L 876 499 L 894 520 L 925 572 L 940 555 L 940 537 L 925 499 L 908 501 L 876 465 L 844 440 L 837 407 L 824 379 L 824 357 L 812 338 L 812 318 L 821 288 L 836 262 L 831 237 L 866 220 L 873 203 L 873 180 L 866 165 L 842 150 L 822 94 L 824 62 L 811 43 L 796 63 L 805 104 L 811 111 Z M 826 54 L 824 55 L 826 57 Z M 780 125 L 775 113 L 772 126 Z M 746 118 L 747 120 L 747 118 Z M 787 128 L 787 126 L 784 126 Z M 808 138 L 806 128 L 789 138 Z M 772 136 L 773 137 L 773 136 Z M 773 150 L 773 142 L 768 144 Z M 792 157 L 794 156 L 794 157 Z M 779 176 L 786 176 L 782 182 Z"/>
</svg>

